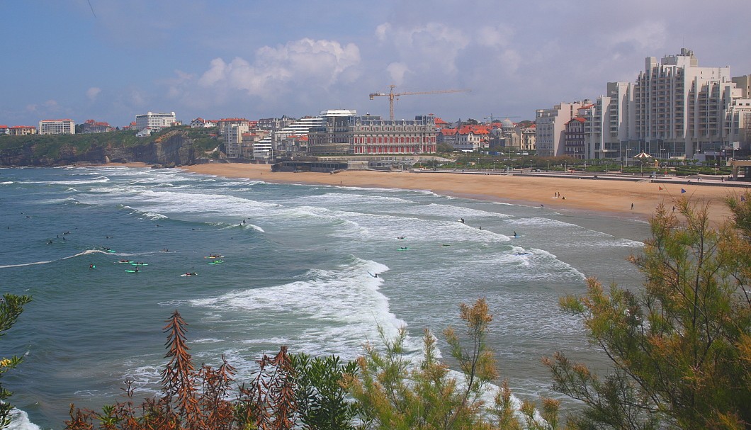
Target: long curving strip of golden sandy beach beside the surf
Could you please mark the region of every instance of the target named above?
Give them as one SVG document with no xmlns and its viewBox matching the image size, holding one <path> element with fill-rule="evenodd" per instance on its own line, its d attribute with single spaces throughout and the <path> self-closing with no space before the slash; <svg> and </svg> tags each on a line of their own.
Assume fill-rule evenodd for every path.
<svg viewBox="0 0 751 430">
<path fill-rule="evenodd" d="M 376 172 L 340 173 L 271 172 L 268 164 L 196 164 L 182 167 L 194 173 L 258 179 L 264 182 L 341 185 L 368 188 L 429 190 L 453 197 L 495 200 L 541 206 L 555 211 L 600 212 L 620 218 L 647 220 L 659 203 L 671 208 L 681 196 L 710 203 L 713 222 L 728 219 L 722 200 L 746 188 L 683 184 L 657 184 L 606 179 L 572 179 L 517 174 L 471 175 L 459 173 Z M 662 190 L 660 189 L 662 188 Z M 685 189 L 686 193 L 681 193 Z M 560 197 L 556 197 L 556 193 Z M 565 197 L 565 199 L 563 198 Z M 633 209 L 632 209 L 633 203 Z"/>
</svg>

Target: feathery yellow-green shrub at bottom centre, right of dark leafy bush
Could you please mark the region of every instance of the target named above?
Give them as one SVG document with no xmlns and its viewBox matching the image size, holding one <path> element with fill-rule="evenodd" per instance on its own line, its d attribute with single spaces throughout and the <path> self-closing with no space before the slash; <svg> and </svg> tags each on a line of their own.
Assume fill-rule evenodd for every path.
<svg viewBox="0 0 751 430">
<path fill-rule="evenodd" d="M 463 335 L 451 328 L 444 331 L 451 356 L 461 369 L 458 377 L 437 358 L 437 339 L 428 330 L 418 363 L 405 356 L 406 329 L 400 329 L 394 339 L 382 333 L 384 353 L 372 344 L 365 345 L 365 356 L 357 359 L 358 374 L 345 377 L 345 386 L 360 402 L 365 428 L 521 428 L 505 383 L 496 392 L 493 404 L 487 404 L 483 397 L 489 383 L 498 377 L 493 353 L 485 344 L 493 320 L 487 302 L 478 299 L 472 306 L 462 303 L 460 318 L 466 329 Z M 469 347 L 460 338 L 468 341 Z M 555 402 L 548 404 L 556 415 Z M 526 403 L 522 409 L 532 423 L 529 428 L 542 428 L 535 427 L 538 423 L 533 418 L 533 404 Z"/>
</svg>

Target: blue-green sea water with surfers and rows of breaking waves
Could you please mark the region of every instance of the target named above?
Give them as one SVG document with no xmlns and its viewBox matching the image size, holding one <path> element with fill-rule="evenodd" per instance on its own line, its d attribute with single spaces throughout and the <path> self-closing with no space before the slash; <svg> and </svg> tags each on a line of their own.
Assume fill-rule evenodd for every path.
<svg viewBox="0 0 751 430">
<path fill-rule="evenodd" d="M 33 296 L 2 338 L 0 355 L 24 356 L 3 384 L 28 414 L 18 428 L 62 428 L 69 404 L 122 399 L 126 378 L 137 399 L 158 392 L 174 310 L 197 366 L 224 355 L 246 381 L 281 345 L 354 359 L 379 343 L 379 326 L 387 335 L 406 326 L 419 354 L 423 329 L 440 338 L 460 326 L 461 302 L 484 297 L 489 344 L 514 394 L 556 395 L 542 356 L 607 363 L 559 297 L 584 293 L 590 275 L 638 287 L 626 257 L 648 233 L 642 221 L 430 191 L 0 169 L 0 293 Z M 211 254 L 224 263 L 209 264 Z M 119 260 L 147 266 L 126 272 L 134 266 Z"/>
</svg>

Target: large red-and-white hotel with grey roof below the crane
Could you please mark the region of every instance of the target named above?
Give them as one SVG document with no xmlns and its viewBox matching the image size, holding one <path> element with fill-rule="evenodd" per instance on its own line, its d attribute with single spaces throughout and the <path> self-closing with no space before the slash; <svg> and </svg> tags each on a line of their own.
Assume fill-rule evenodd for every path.
<svg viewBox="0 0 751 430">
<path fill-rule="evenodd" d="M 436 134 L 432 115 L 415 116 L 415 119 L 329 116 L 325 125 L 309 131 L 308 152 L 311 155 L 433 153 L 436 152 Z"/>
</svg>

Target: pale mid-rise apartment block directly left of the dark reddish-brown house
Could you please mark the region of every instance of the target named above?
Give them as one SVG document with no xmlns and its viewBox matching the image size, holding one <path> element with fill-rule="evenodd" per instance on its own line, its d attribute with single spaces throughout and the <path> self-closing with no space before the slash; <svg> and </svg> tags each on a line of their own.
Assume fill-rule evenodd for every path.
<svg viewBox="0 0 751 430">
<path fill-rule="evenodd" d="M 535 145 L 540 157 L 564 155 L 563 142 L 566 122 L 577 116 L 579 108 L 591 104 L 589 100 L 556 104 L 553 109 L 538 109 L 535 117 Z"/>
</svg>

